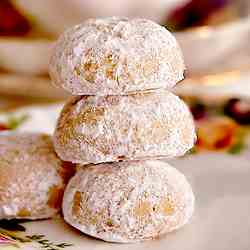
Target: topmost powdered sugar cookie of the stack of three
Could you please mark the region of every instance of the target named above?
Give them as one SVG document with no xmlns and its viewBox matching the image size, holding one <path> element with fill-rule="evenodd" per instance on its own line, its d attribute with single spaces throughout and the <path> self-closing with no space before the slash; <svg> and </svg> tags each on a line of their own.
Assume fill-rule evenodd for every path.
<svg viewBox="0 0 250 250">
<path fill-rule="evenodd" d="M 185 66 L 174 36 L 146 19 L 90 19 L 67 30 L 50 61 L 53 82 L 73 95 L 171 88 Z"/>
</svg>

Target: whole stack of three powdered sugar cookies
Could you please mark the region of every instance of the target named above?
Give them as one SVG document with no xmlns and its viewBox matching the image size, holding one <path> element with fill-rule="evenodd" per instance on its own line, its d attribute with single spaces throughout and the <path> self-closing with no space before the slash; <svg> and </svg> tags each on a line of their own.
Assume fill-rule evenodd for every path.
<svg viewBox="0 0 250 250">
<path fill-rule="evenodd" d="M 75 95 L 54 147 L 78 164 L 63 199 L 65 220 L 111 242 L 153 239 L 182 227 L 194 209 L 184 175 L 156 159 L 192 148 L 188 107 L 167 89 L 183 79 L 175 38 L 145 19 L 91 19 L 55 45 L 50 75 Z"/>
</svg>

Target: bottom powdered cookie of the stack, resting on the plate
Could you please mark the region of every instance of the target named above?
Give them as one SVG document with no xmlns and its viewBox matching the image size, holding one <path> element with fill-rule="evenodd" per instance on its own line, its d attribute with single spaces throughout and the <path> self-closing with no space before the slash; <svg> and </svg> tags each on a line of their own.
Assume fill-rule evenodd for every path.
<svg viewBox="0 0 250 250">
<path fill-rule="evenodd" d="M 110 242 L 159 237 L 186 224 L 193 211 L 194 195 L 185 176 L 161 161 L 82 167 L 63 198 L 67 223 Z"/>
</svg>

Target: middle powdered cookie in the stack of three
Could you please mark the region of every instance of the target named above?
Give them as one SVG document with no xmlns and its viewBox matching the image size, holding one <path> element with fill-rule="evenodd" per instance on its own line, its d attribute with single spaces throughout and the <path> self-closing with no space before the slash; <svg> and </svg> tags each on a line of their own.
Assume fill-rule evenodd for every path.
<svg viewBox="0 0 250 250">
<path fill-rule="evenodd" d="M 167 91 L 74 97 L 53 137 L 60 158 L 80 164 L 181 156 L 195 139 L 188 107 Z"/>
</svg>

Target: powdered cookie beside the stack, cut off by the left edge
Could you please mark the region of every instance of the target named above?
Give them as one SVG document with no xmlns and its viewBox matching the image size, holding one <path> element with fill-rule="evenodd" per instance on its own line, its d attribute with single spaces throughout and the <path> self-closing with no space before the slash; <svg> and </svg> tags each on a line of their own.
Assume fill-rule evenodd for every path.
<svg viewBox="0 0 250 250">
<path fill-rule="evenodd" d="M 74 173 L 45 134 L 0 134 L 0 219 L 44 219 L 61 210 Z"/>
</svg>

